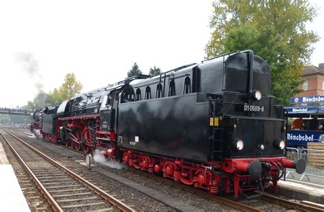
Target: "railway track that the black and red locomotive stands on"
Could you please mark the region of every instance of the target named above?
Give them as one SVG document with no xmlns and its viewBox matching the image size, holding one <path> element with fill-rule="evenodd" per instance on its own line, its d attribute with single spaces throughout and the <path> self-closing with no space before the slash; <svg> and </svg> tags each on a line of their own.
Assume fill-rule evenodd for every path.
<svg viewBox="0 0 324 212">
<path fill-rule="evenodd" d="M 61 145 L 60 145 L 61 146 Z M 64 148 L 66 148 L 65 146 L 62 146 Z M 67 148 L 68 150 L 70 150 L 70 148 Z M 80 152 L 76 152 L 73 151 L 75 153 L 79 153 Z M 81 152 L 83 155 L 83 152 Z M 280 205 L 280 210 L 291 210 L 291 209 L 295 209 L 298 211 L 323 211 L 323 206 L 322 205 L 318 205 L 318 204 L 314 204 L 312 202 L 292 202 L 290 200 L 285 200 L 283 198 L 278 198 L 275 196 L 271 196 L 269 194 L 257 194 L 256 199 L 254 200 L 254 202 L 258 202 L 258 204 L 253 204 L 253 201 L 244 201 L 244 202 L 239 202 L 237 200 L 230 200 L 229 198 L 223 198 L 221 196 L 213 196 L 211 194 L 206 193 L 205 191 L 200 191 L 198 189 L 195 189 L 193 187 L 189 187 L 187 185 L 182 185 L 180 183 L 174 182 L 174 181 L 170 181 L 166 178 L 158 178 L 157 176 L 154 176 L 152 174 L 146 173 L 146 172 L 141 172 L 139 170 L 135 170 L 134 168 L 130 168 L 129 170 L 132 170 L 132 172 L 134 172 L 135 174 L 139 174 L 142 176 L 146 176 L 148 178 L 152 178 L 154 177 L 157 181 L 161 182 L 161 183 L 166 183 L 168 185 L 172 185 L 174 187 L 177 187 L 178 189 L 182 189 L 188 192 L 191 192 L 193 194 L 197 194 L 198 196 L 202 196 L 206 199 L 212 200 L 214 202 L 217 202 L 219 204 L 224 204 L 227 205 L 229 207 L 232 207 L 234 209 L 239 209 L 241 211 L 267 211 L 267 209 L 265 209 L 265 204 L 269 204 L 268 208 L 271 208 L 272 206 L 278 206 Z"/>
</svg>

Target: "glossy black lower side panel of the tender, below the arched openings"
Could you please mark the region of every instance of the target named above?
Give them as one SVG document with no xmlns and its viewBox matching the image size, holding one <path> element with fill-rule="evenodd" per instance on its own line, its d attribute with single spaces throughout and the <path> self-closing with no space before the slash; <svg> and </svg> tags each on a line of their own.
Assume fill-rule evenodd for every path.
<svg viewBox="0 0 324 212">
<path fill-rule="evenodd" d="M 208 160 L 206 94 L 120 104 L 118 146 L 164 157 Z"/>
</svg>

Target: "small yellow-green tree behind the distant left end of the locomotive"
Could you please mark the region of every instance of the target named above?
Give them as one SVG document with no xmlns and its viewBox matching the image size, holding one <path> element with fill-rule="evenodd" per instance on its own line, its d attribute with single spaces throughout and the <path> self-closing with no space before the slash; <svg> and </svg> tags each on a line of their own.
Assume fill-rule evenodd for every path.
<svg viewBox="0 0 324 212">
<path fill-rule="evenodd" d="M 55 99 L 55 102 L 62 102 L 66 99 L 70 99 L 75 94 L 79 94 L 83 88 L 80 81 L 77 81 L 74 73 L 67 73 L 64 78 L 64 83 L 59 87 L 59 90 L 53 90 L 51 95 Z"/>
</svg>

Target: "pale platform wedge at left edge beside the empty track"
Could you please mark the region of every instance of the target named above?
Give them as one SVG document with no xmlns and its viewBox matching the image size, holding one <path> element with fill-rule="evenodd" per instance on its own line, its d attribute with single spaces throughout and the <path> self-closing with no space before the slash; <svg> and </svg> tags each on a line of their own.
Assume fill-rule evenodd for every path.
<svg viewBox="0 0 324 212">
<path fill-rule="evenodd" d="M 0 208 L 1 211 L 30 211 L 14 169 L 0 143 Z"/>
</svg>

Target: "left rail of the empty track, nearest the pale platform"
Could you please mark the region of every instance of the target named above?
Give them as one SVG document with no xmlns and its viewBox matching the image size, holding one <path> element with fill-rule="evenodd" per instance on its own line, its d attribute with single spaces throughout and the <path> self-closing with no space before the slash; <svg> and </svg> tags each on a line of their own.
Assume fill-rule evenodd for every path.
<svg viewBox="0 0 324 212">
<path fill-rule="evenodd" d="M 27 171 L 29 176 L 31 176 L 31 178 L 33 179 L 33 182 L 36 184 L 38 189 L 40 189 L 40 192 L 44 195 L 44 198 L 46 198 L 46 200 L 49 202 L 49 204 L 51 204 L 52 209 L 54 211 L 63 211 L 63 209 L 61 207 L 59 207 L 59 204 L 54 200 L 54 198 L 51 196 L 51 194 L 49 194 L 49 191 L 47 191 L 47 189 L 44 187 L 44 185 L 42 185 L 42 183 L 40 183 L 37 176 L 35 174 L 33 174 L 31 169 L 29 168 L 29 166 L 25 163 L 25 161 L 23 161 L 21 156 L 16 152 L 16 150 L 10 144 L 10 142 L 7 140 L 7 138 L 2 133 L 0 133 L 0 134 L 3 137 L 3 139 L 5 140 L 5 142 L 8 144 L 8 146 L 10 147 L 10 149 L 12 150 L 12 153 L 14 153 L 14 155 L 16 155 L 17 159 L 21 162 L 21 164 L 23 165 L 23 168 L 25 168 L 25 170 Z"/>
</svg>

